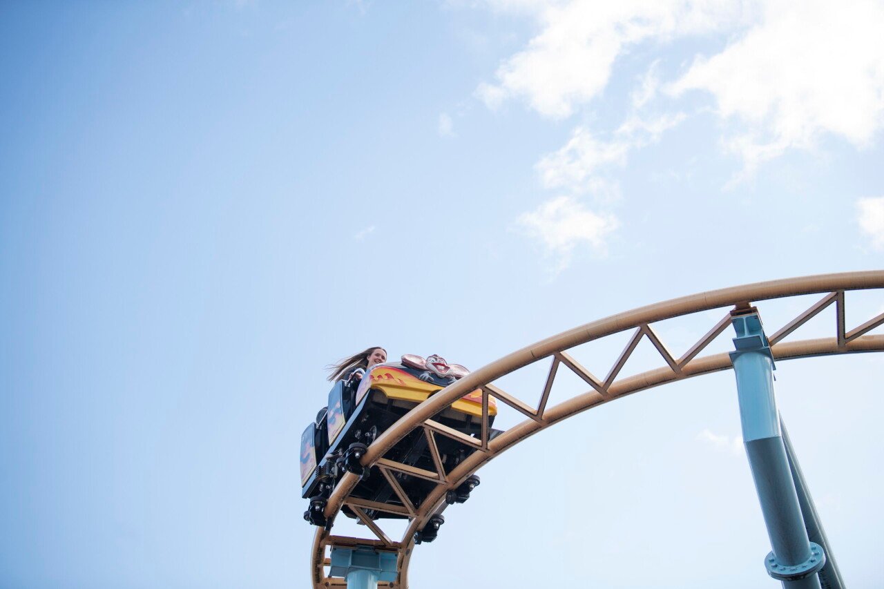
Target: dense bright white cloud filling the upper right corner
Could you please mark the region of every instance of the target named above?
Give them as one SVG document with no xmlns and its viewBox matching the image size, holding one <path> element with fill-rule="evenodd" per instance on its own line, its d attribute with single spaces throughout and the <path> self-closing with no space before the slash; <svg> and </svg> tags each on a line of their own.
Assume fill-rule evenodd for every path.
<svg viewBox="0 0 884 589">
<path fill-rule="evenodd" d="M 725 145 L 750 170 L 824 132 L 864 146 L 884 126 L 882 30 L 880 2 L 767 2 L 755 27 L 669 91 L 709 92 L 723 119 L 738 119 Z"/>
</svg>

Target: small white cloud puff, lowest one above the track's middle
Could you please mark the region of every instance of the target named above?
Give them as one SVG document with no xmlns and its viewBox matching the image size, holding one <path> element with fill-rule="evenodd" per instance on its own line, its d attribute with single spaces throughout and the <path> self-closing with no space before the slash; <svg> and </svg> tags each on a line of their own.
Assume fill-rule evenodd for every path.
<svg viewBox="0 0 884 589">
<path fill-rule="evenodd" d="M 571 263 L 572 252 L 580 243 L 589 243 L 598 255 L 606 255 L 606 239 L 619 222 L 613 215 L 589 210 L 573 196 L 559 196 L 523 213 L 516 224 L 557 258 L 554 273 L 558 273 Z"/>
</svg>

